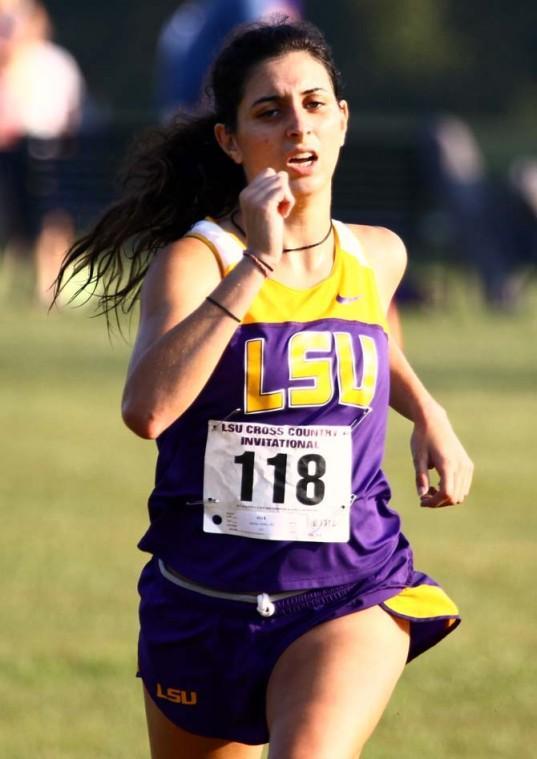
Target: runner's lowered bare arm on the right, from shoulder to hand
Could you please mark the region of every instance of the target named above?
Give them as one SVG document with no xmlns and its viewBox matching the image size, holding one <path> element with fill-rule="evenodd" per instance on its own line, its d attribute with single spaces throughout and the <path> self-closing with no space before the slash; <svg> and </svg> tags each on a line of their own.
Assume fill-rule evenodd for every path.
<svg viewBox="0 0 537 759">
<path fill-rule="evenodd" d="M 355 229 L 375 269 L 380 296 L 388 309 L 404 273 L 404 245 L 388 230 Z M 414 423 L 410 448 L 421 505 L 434 508 L 461 503 L 470 490 L 473 464 L 445 410 L 425 388 L 393 339 L 390 339 L 390 379 L 390 405 Z M 429 469 L 438 473 L 437 487 L 431 485 Z"/>
</svg>

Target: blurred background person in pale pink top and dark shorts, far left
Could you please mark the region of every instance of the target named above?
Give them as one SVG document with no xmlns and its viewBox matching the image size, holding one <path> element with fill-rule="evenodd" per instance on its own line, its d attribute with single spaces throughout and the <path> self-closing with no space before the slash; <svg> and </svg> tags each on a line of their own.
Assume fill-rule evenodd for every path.
<svg viewBox="0 0 537 759">
<path fill-rule="evenodd" d="M 80 125 L 84 79 L 73 56 L 51 41 L 49 14 L 37 0 L 0 0 L 0 185 L 2 243 L 11 252 L 34 248 L 36 295 L 49 288 L 73 237 L 73 223 L 54 190 L 36 218 L 26 157 L 50 158 Z"/>
</svg>

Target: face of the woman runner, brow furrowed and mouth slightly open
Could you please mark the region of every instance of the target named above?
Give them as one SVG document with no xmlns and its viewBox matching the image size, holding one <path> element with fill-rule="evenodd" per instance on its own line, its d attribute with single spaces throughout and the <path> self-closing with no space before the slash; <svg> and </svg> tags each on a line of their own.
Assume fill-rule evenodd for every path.
<svg viewBox="0 0 537 759">
<path fill-rule="evenodd" d="M 336 100 L 323 64 L 307 52 L 293 52 L 253 70 L 236 130 L 221 125 L 217 138 L 248 181 L 269 167 L 287 171 L 291 190 L 307 195 L 330 184 L 347 120 L 347 103 Z"/>
</svg>

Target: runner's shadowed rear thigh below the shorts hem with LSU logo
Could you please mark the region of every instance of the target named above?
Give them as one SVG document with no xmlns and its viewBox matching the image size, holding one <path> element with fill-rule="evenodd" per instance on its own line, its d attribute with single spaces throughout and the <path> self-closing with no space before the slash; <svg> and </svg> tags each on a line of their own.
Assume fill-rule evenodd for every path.
<svg viewBox="0 0 537 759">
<path fill-rule="evenodd" d="M 173 724 L 144 688 L 152 759 L 260 759 L 262 747 L 204 738 Z"/>
</svg>

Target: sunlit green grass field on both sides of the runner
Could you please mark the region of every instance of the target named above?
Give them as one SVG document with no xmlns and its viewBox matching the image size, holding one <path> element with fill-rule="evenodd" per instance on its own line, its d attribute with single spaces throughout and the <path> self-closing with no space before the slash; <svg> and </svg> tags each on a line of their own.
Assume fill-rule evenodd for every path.
<svg viewBox="0 0 537 759">
<path fill-rule="evenodd" d="M 537 298 L 404 314 L 407 353 L 475 459 L 463 507 L 420 511 L 410 427 L 386 468 L 416 564 L 464 623 L 411 664 L 366 759 L 536 756 Z M 135 583 L 153 444 L 121 425 L 128 345 L 84 313 L 0 304 L 0 756 L 148 755 Z"/>
</svg>

